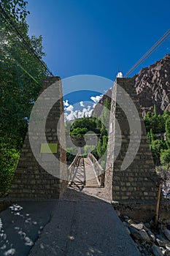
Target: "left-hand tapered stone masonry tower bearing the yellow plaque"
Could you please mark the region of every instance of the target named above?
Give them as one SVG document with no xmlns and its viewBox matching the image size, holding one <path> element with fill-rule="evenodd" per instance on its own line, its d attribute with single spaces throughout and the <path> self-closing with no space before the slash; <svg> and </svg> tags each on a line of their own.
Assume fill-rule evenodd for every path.
<svg viewBox="0 0 170 256">
<path fill-rule="evenodd" d="M 57 152 L 54 153 L 54 155 L 61 161 L 58 161 L 58 164 L 55 167 L 56 172 L 59 173 L 58 175 L 62 176 L 62 179 L 58 178 L 58 175 L 53 176 L 50 173 L 47 173 L 47 171 L 44 170 L 43 167 L 36 161 L 36 158 L 31 150 L 27 132 L 15 177 L 12 181 L 9 198 L 58 198 L 66 189 L 67 182 L 66 180 L 63 180 L 64 177 L 66 178 L 66 168 L 63 167 L 64 165 L 61 165 L 62 162 L 66 163 L 66 151 L 64 151 L 61 146 L 61 144 L 66 144 L 63 116 L 61 117 L 61 113 L 63 113 L 61 78 L 45 78 L 44 83 L 42 83 L 42 91 L 45 91 L 45 89 L 47 89 L 53 83 L 55 83 L 55 93 L 60 96 L 60 100 L 53 105 L 53 108 L 50 110 L 50 113 L 47 116 L 45 135 L 47 138 L 47 143 L 58 144 Z M 45 98 L 43 100 L 50 102 L 49 98 Z M 41 141 L 41 133 L 42 130 L 39 129 L 35 132 L 35 134 L 31 135 L 35 141 L 40 140 L 38 148 L 39 154 L 43 143 L 43 141 Z M 61 144 L 60 141 L 62 142 Z M 42 154 L 42 157 L 49 158 L 49 156 L 50 154 Z M 63 169 L 61 170 L 61 168 Z"/>
</svg>

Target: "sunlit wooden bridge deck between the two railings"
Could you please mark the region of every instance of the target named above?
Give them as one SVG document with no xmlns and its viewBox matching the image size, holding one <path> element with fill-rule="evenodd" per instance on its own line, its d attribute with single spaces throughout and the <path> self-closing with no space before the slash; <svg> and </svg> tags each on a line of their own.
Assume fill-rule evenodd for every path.
<svg viewBox="0 0 170 256">
<path fill-rule="evenodd" d="M 80 159 L 72 176 L 72 187 L 99 187 L 93 164 L 89 158 Z"/>
</svg>

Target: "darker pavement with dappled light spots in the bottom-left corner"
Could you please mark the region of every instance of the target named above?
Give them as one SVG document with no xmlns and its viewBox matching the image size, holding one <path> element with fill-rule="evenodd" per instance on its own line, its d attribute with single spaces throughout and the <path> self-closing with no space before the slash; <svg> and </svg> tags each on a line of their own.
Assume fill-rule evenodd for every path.
<svg viewBox="0 0 170 256">
<path fill-rule="evenodd" d="M 18 202 L 0 213 L 0 255 L 28 255 L 51 219 L 55 202 Z"/>
</svg>

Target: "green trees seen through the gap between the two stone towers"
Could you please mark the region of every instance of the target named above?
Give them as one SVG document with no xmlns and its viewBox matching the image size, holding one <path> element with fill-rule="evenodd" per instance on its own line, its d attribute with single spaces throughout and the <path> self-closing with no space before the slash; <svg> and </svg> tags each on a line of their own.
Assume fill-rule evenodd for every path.
<svg viewBox="0 0 170 256">
<path fill-rule="evenodd" d="M 90 118 L 84 117 L 74 120 L 72 123 L 66 122 L 66 138 L 82 138 L 82 142 L 80 140 L 80 146 L 82 146 L 82 155 L 84 157 L 87 156 L 88 152 L 91 152 L 96 159 L 101 159 L 104 156 L 104 153 L 107 151 L 107 142 L 108 142 L 108 127 L 109 127 L 109 110 L 110 110 L 110 102 L 108 99 L 104 102 L 104 110 L 101 113 L 99 118 L 95 116 L 91 116 Z M 87 133 L 88 132 L 88 133 Z M 92 135 L 94 133 L 98 138 L 97 146 L 84 144 L 84 139 L 87 136 Z M 67 137 L 68 136 L 68 137 Z M 81 145 L 82 144 L 82 145 Z M 79 146 L 78 144 L 75 144 Z M 76 147 L 75 147 L 76 148 Z M 74 156 L 77 152 L 75 148 L 67 148 L 67 162 L 71 163 L 74 159 Z M 105 161 L 102 162 L 102 167 L 105 166 Z"/>
</svg>

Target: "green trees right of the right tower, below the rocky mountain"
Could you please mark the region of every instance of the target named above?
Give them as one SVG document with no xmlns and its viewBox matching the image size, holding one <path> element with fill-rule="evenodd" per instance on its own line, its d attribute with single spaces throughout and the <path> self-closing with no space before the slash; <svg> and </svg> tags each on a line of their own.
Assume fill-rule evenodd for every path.
<svg viewBox="0 0 170 256">
<path fill-rule="evenodd" d="M 162 115 L 147 112 L 144 116 L 147 137 L 155 165 L 170 166 L 170 112 L 165 110 Z"/>
</svg>

